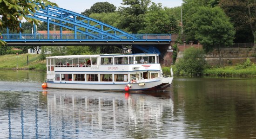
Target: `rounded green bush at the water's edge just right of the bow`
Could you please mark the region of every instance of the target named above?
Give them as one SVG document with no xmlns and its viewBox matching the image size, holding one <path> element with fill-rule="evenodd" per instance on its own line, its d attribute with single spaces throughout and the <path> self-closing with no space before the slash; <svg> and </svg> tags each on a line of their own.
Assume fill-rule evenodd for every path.
<svg viewBox="0 0 256 139">
<path fill-rule="evenodd" d="M 175 63 L 175 74 L 201 75 L 204 69 L 205 53 L 202 49 L 189 48 L 184 51 L 183 58 Z"/>
</svg>

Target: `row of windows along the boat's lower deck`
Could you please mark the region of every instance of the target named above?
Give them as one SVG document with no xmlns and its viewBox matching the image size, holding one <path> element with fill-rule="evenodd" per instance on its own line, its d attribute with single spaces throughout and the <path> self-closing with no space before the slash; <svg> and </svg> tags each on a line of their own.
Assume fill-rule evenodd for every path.
<svg viewBox="0 0 256 139">
<path fill-rule="evenodd" d="M 72 76 L 73 75 L 73 76 Z M 150 76 L 148 76 L 150 75 Z M 140 74 L 131 74 L 130 80 L 138 80 Z M 141 73 L 141 78 L 155 78 L 158 73 Z M 127 82 L 128 74 L 55 74 L 55 81 L 88 81 L 88 82 Z"/>
</svg>

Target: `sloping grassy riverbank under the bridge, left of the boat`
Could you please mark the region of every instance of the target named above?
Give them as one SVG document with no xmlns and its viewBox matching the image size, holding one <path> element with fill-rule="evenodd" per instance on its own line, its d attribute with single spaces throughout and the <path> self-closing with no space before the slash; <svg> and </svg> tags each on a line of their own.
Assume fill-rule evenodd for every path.
<svg viewBox="0 0 256 139">
<path fill-rule="evenodd" d="M 28 56 L 28 65 L 27 65 Z M 40 61 L 40 55 L 20 54 L 0 56 L 0 69 L 36 69 L 46 70 L 46 60 Z"/>
</svg>

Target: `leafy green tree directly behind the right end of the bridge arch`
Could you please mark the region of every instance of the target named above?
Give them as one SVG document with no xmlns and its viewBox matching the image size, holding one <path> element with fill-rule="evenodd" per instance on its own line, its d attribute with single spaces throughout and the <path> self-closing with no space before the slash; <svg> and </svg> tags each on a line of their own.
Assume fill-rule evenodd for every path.
<svg viewBox="0 0 256 139">
<path fill-rule="evenodd" d="M 163 9 L 161 3 L 156 5 L 152 2 L 145 14 L 145 28 L 139 33 L 178 33 L 179 30 L 179 21 L 170 10 Z"/>
</svg>

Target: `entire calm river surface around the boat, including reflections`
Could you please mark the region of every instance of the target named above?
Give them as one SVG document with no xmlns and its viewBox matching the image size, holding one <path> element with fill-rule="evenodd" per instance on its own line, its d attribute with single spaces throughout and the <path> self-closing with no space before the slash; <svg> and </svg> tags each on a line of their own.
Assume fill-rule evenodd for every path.
<svg viewBox="0 0 256 139">
<path fill-rule="evenodd" d="M 0 71 L 0 139 L 256 138 L 256 79 L 175 77 L 163 93 L 41 88 L 45 72 Z"/>
</svg>

